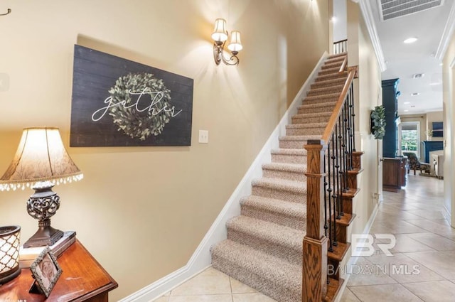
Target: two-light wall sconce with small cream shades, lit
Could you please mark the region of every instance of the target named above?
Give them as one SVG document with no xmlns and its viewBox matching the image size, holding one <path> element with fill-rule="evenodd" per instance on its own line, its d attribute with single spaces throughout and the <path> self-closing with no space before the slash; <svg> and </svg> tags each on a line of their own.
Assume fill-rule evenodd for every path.
<svg viewBox="0 0 455 302">
<path fill-rule="evenodd" d="M 238 65 L 240 60 L 237 58 L 237 54 L 242 50 L 242 42 L 240 42 L 240 31 L 232 31 L 230 33 L 230 43 L 228 49 L 232 53 L 230 58 L 225 58 L 223 50 L 225 43 L 229 38 L 229 33 L 226 30 L 226 20 L 218 18 L 215 20 L 215 29 L 212 33 L 213 41 L 213 58 L 215 59 L 216 65 L 220 65 L 223 61 L 226 65 Z"/>
</svg>

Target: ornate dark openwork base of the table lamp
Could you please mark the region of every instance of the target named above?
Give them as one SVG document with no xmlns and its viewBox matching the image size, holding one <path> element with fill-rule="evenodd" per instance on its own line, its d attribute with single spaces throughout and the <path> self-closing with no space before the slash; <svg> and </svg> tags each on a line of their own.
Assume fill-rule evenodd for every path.
<svg viewBox="0 0 455 302">
<path fill-rule="evenodd" d="M 33 187 L 35 193 L 27 200 L 27 212 L 31 217 L 39 220 L 38 231 L 23 244 L 23 247 L 53 245 L 63 237 L 62 231 L 50 226 L 50 217 L 60 207 L 60 197 L 53 192 L 53 186 L 53 183 L 45 182 Z"/>
</svg>

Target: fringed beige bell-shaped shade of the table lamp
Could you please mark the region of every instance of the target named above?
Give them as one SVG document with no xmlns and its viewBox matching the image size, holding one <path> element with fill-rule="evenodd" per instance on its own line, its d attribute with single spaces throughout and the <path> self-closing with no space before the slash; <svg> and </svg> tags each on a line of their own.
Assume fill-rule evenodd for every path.
<svg viewBox="0 0 455 302">
<path fill-rule="evenodd" d="M 66 183 L 82 177 L 63 146 L 58 128 L 26 128 L 13 161 L 0 178 L 0 190 L 24 188 L 47 180 Z"/>
</svg>

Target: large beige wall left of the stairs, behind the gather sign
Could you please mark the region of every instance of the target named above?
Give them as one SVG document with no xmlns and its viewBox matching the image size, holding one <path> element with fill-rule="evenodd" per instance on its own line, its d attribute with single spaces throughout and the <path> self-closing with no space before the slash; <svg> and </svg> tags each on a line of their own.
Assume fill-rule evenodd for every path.
<svg viewBox="0 0 455 302">
<path fill-rule="evenodd" d="M 85 178 L 55 188 L 62 205 L 53 225 L 76 230 L 119 282 L 113 301 L 187 263 L 328 50 L 326 0 L 4 0 L 2 7 L 12 13 L 0 18 L 0 171 L 25 126 L 58 126 L 68 146 L 75 43 L 194 79 L 191 146 L 69 149 Z M 213 62 L 218 17 L 242 32 L 237 67 Z M 198 144 L 199 129 L 209 131 L 209 144 Z M 26 214 L 29 195 L 0 193 L 1 224 L 21 225 L 23 240 L 37 225 Z"/>
</svg>

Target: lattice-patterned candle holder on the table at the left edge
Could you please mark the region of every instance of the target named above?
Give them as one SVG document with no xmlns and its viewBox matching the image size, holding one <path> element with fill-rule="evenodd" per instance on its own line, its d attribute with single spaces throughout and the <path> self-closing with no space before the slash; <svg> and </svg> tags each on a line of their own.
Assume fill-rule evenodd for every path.
<svg viewBox="0 0 455 302">
<path fill-rule="evenodd" d="M 19 269 L 19 239 L 21 227 L 0 227 L 0 285 L 21 274 Z"/>
</svg>

